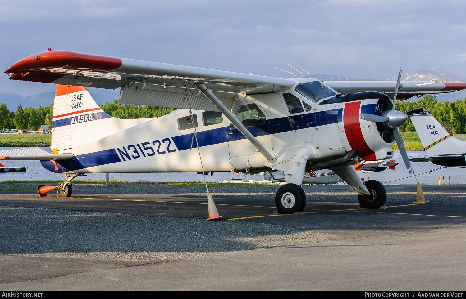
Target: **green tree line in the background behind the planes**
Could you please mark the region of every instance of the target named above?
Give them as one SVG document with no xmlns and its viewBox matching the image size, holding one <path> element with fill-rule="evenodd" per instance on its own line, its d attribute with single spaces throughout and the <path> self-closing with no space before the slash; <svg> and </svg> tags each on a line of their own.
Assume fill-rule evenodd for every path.
<svg viewBox="0 0 466 299">
<path fill-rule="evenodd" d="M 424 95 L 418 101 L 396 102 L 397 110 L 408 112 L 413 109 L 425 107 L 439 120 L 445 129 L 452 133 L 464 134 L 466 132 L 466 99 L 439 101 L 435 95 Z M 175 108 L 139 106 L 133 104 L 121 104 L 118 99 L 106 102 L 101 106 L 102 110 L 119 119 L 130 120 L 148 117 L 160 117 L 171 113 Z M 46 107 L 22 107 L 18 105 L 16 113 L 10 112 L 5 104 L 0 103 L 0 128 L 37 130 L 42 124 L 52 128 L 53 104 Z M 400 126 L 400 131 L 415 132 L 410 119 Z"/>
</svg>

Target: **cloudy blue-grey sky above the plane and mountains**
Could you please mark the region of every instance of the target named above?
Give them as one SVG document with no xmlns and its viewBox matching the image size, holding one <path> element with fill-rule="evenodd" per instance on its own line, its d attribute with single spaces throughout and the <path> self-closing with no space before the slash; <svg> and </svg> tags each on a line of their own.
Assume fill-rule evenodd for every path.
<svg viewBox="0 0 466 299">
<path fill-rule="evenodd" d="M 0 69 L 70 50 L 288 78 L 384 80 L 439 68 L 466 77 L 466 1 L 0 1 Z M 0 93 L 54 91 L 7 80 Z"/>
</svg>

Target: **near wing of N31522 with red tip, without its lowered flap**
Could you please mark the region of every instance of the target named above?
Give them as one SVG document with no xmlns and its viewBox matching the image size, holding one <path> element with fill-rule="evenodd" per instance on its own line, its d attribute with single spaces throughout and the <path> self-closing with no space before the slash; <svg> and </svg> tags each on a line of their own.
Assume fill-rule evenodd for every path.
<svg viewBox="0 0 466 299">
<path fill-rule="evenodd" d="M 280 78 L 69 51 L 34 54 L 18 61 L 5 73 L 14 73 L 12 80 L 108 89 L 133 82 L 188 87 L 205 83 L 215 91 L 273 93 L 295 84 Z"/>
</svg>

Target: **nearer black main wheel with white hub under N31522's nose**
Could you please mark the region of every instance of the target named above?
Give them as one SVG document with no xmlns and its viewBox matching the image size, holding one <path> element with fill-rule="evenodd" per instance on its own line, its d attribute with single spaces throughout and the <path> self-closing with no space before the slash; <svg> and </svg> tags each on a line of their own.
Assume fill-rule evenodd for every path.
<svg viewBox="0 0 466 299">
<path fill-rule="evenodd" d="M 301 186 L 285 184 L 275 194 L 275 205 L 278 213 L 293 214 L 304 211 L 306 207 L 306 193 Z"/>
</svg>

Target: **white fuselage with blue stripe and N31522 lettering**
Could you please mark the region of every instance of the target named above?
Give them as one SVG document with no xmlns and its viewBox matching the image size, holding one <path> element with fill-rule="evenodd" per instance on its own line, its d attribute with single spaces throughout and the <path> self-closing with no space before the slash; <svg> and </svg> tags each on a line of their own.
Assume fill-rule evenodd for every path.
<svg viewBox="0 0 466 299">
<path fill-rule="evenodd" d="M 289 94 L 302 102 L 304 111 L 291 113 L 284 100 Z M 251 121 L 254 124 L 245 126 L 274 156 L 293 146 L 308 146 L 315 150 L 313 160 L 338 159 L 350 150 L 357 150 L 358 156 L 365 160 L 390 158 L 393 141 L 382 140 L 376 123 L 361 120 L 358 116 L 359 113 L 374 113 L 379 99 L 348 102 L 341 99 L 344 98 L 333 97 L 314 103 L 291 89 L 281 93 L 244 95 L 234 103 L 232 112 L 238 115 L 245 106 L 251 109 L 255 105 L 260 112 L 252 113 L 263 113 L 260 123 L 254 120 L 256 123 Z M 58 169 L 55 163 L 42 161 L 48 170 L 57 173 L 201 172 L 198 143 L 206 172 L 248 170 L 251 173 L 269 169 L 264 166 L 267 162 L 264 156 L 238 129 L 230 126 L 225 116 L 215 118 L 214 123 L 206 123 L 206 113 L 209 112 L 192 110 L 197 122 L 196 138 L 187 109 L 139 120 L 118 120 L 106 117 L 106 113 L 91 119 L 89 112 L 80 111 L 77 110 L 75 115 L 74 112 L 65 113 L 62 120 L 55 120 L 52 134 L 58 134 L 58 124 L 64 121 L 75 136 L 82 132 L 84 135 L 79 138 L 87 138 L 90 142 L 81 146 L 67 145 L 69 149 L 58 146 L 58 153 L 73 153 L 75 157 L 57 161 Z M 99 120 L 100 127 L 89 130 L 93 120 Z M 133 123 L 124 128 L 118 121 Z M 110 134 L 99 138 L 101 135 L 95 132 L 107 130 L 105 122 L 112 124 L 108 126 Z M 52 148 L 54 146 L 53 139 Z"/>
</svg>

